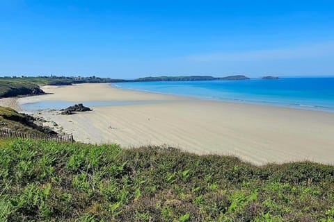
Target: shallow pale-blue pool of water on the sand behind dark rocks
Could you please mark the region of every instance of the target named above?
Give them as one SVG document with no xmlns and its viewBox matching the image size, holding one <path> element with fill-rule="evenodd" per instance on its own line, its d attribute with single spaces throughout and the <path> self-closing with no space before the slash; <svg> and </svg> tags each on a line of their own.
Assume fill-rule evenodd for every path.
<svg viewBox="0 0 334 222">
<path fill-rule="evenodd" d="M 89 108 L 99 106 L 116 106 L 116 105 L 142 105 L 142 104 L 155 104 L 155 103 L 167 103 L 169 101 L 88 101 L 88 102 L 68 102 L 68 101 L 39 101 L 35 103 L 23 103 L 21 104 L 22 110 L 33 112 L 36 110 L 61 110 L 77 103 L 83 103 Z"/>
</svg>

